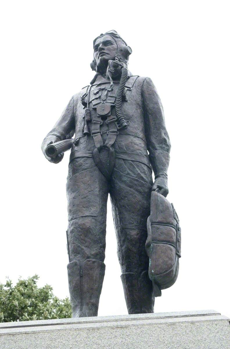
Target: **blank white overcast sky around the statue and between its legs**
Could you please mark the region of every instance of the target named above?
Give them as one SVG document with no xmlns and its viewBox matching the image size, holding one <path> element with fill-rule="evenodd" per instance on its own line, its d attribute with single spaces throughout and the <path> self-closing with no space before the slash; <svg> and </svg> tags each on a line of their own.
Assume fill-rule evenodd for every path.
<svg viewBox="0 0 230 349">
<path fill-rule="evenodd" d="M 111 29 L 132 47 L 129 69 L 149 76 L 170 136 L 168 199 L 182 227 L 178 280 L 155 312 L 229 303 L 228 1 L 7 1 L 1 25 L 0 281 L 40 275 L 68 295 L 65 184 L 40 145 L 72 95 L 89 84 L 92 42 Z M 108 202 L 99 315 L 127 314 Z"/>
</svg>

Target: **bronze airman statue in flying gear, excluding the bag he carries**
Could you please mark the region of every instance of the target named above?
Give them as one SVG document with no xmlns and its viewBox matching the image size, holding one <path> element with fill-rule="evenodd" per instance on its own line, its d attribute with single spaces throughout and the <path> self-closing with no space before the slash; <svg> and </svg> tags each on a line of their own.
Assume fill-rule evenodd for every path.
<svg viewBox="0 0 230 349">
<path fill-rule="evenodd" d="M 159 236 L 151 241 L 149 237 L 149 258 L 145 250 L 151 192 L 161 197 L 168 194 L 170 141 L 163 109 L 152 80 L 133 76 L 128 70 L 132 50 L 116 31 L 95 38 L 93 51 L 93 80 L 70 99 L 42 143 L 43 153 L 52 163 L 59 163 L 64 150 L 71 147 L 66 188 L 67 269 L 73 317 L 98 313 L 105 274 L 108 193 L 128 312 L 152 313 L 154 293 L 159 296 L 160 288 L 168 286 L 160 287 L 154 270 L 149 270 L 152 276 L 148 275 L 149 246 L 160 242 L 178 248 L 178 235 L 174 233 L 171 243 L 170 238 L 163 242 Z M 177 224 L 149 224 L 164 227 L 174 222 Z"/>
</svg>

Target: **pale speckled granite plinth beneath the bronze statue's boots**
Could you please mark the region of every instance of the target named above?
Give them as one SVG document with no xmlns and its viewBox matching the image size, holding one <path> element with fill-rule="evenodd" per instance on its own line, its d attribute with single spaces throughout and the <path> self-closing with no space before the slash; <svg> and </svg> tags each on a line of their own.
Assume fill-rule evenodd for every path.
<svg viewBox="0 0 230 349">
<path fill-rule="evenodd" d="M 230 349 L 230 319 L 189 311 L 5 322 L 1 349 Z"/>
</svg>

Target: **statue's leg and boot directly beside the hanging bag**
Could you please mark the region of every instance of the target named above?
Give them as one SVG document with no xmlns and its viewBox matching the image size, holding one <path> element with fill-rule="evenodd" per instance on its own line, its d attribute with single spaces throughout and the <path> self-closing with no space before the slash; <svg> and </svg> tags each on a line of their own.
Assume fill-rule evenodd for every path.
<svg viewBox="0 0 230 349">
<path fill-rule="evenodd" d="M 116 159 L 110 197 L 129 314 L 153 312 L 154 295 L 145 251 L 151 188 L 151 169 L 138 162 Z"/>
</svg>

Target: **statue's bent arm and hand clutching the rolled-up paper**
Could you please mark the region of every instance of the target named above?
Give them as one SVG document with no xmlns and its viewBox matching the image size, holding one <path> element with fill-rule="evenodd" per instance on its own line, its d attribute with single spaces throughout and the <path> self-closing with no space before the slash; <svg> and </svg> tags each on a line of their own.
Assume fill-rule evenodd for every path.
<svg viewBox="0 0 230 349">
<path fill-rule="evenodd" d="M 74 116 L 74 96 L 70 99 L 68 105 L 63 110 L 61 117 L 56 122 L 51 131 L 45 136 L 41 150 L 45 157 L 52 163 L 59 163 L 64 156 L 64 153 L 59 154 L 54 158 L 49 158 L 45 154 L 45 149 L 49 144 L 71 138 L 75 133 L 75 116 Z"/>
</svg>

